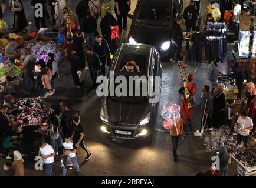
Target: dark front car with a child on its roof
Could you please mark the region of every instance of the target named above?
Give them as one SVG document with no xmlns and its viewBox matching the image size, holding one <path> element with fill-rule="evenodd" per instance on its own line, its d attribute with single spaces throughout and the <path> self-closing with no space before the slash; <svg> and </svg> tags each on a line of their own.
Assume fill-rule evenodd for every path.
<svg viewBox="0 0 256 188">
<path fill-rule="evenodd" d="M 149 135 L 160 100 L 161 76 L 160 55 L 153 46 L 120 45 L 104 85 L 101 131 L 122 139 Z"/>
</svg>

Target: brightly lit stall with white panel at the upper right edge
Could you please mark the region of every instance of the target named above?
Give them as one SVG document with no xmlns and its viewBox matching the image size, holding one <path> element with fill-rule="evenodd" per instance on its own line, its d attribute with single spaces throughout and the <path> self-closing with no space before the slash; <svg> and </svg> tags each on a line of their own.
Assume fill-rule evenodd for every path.
<svg viewBox="0 0 256 188">
<path fill-rule="evenodd" d="M 238 42 L 238 61 L 242 66 L 244 72 L 247 72 L 247 62 L 249 55 L 249 39 L 250 39 L 250 18 L 251 16 L 242 15 L 240 18 L 240 32 L 239 32 L 239 42 Z M 254 21 L 256 24 L 256 21 Z M 256 27 L 254 27 L 254 31 L 256 31 Z M 251 78 L 255 77 L 255 63 L 256 63 L 256 32 L 254 32 L 254 42 L 252 49 L 252 70 L 251 70 Z"/>
</svg>

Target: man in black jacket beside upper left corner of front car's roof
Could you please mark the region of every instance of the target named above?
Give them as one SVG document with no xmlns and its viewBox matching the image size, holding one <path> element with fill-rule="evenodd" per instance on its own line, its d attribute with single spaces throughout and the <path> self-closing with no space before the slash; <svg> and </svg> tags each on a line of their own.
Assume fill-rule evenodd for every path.
<svg viewBox="0 0 256 188">
<path fill-rule="evenodd" d="M 109 44 L 101 36 L 96 36 L 96 40 L 93 42 L 93 52 L 100 58 L 102 75 L 105 76 L 105 64 L 107 56 L 110 55 Z"/>
</svg>

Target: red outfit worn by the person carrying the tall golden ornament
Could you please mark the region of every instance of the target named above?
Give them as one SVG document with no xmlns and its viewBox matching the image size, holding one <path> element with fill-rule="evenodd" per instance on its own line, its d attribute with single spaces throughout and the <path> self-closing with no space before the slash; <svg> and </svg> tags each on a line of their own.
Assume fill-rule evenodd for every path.
<svg viewBox="0 0 256 188">
<path fill-rule="evenodd" d="M 189 82 L 188 83 L 188 90 L 189 90 L 189 93 L 191 94 L 190 95 L 191 103 L 193 103 L 193 96 L 192 95 L 195 95 L 195 92 L 196 92 L 195 83 Z M 191 119 L 191 115 L 192 115 L 192 112 L 193 112 L 193 107 L 188 109 L 188 107 L 186 106 L 185 99 L 183 99 L 183 98 L 181 100 L 181 111 L 182 111 L 182 120 L 184 122 Z"/>
</svg>

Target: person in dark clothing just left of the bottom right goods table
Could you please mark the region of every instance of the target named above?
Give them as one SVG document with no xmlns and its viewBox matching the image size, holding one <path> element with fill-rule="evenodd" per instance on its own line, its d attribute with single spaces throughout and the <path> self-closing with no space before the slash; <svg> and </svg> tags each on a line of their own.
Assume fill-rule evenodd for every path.
<svg viewBox="0 0 256 188">
<path fill-rule="evenodd" d="M 228 153 L 226 147 L 219 148 L 219 170 L 221 171 L 221 176 L 227 176 L 228 170 L 228 160 L 230 154 Z"/>
</svg>

